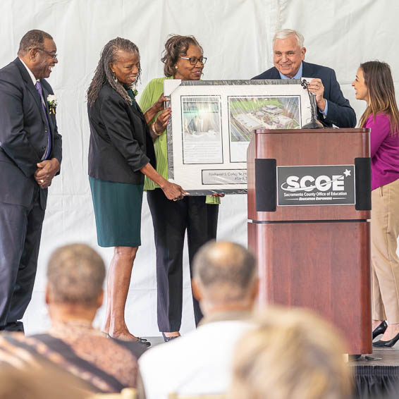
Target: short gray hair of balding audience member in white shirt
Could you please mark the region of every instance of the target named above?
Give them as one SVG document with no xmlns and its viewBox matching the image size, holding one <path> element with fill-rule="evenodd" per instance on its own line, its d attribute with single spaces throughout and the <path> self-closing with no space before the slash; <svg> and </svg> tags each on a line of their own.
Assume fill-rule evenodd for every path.
<svg viewBox="0 0 399 399">
<path fill-rule="evenodd" d="M 243 245 L 209 241 L 195 254 L 194 277 L 207 291 L 227 287 L 225 300 L 240 300 L 251 292 L 257 278 L 254 255 Z"/>
</svg>

